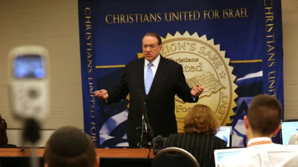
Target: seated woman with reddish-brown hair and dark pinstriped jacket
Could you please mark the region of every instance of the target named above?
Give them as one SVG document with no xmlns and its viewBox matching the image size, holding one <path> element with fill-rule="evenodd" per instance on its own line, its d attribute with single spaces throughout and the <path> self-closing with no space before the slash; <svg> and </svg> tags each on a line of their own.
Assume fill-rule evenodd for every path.
<svg viewBox="0 0 298 167">
<path fill-rule="evenodd" d="M 171 134 L 167 147 L 178 147 L 192 154 L 200 167 L 215 167 L 214 150 L 226 148 L 226 142 L 215 134 L 220 122 L 205 105 L 195 105 L 184 117 L 184 133 Z"/>
</svg>

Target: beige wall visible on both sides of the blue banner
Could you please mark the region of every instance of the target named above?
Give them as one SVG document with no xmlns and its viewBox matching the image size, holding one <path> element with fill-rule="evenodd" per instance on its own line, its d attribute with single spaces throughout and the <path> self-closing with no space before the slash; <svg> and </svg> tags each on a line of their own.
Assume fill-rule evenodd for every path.
<svg viewBox="0 0 298 167">
<path fill-rule="evenodd" d="M 285 118 L 298 118 L 298 0 L 282 0 Z M 44 129 L 83 128 L 77 0 L 0 0 L 0 113 L 8 128 L 19 129 L 8 107 L 7 53 L 15 46 L 39 44 L 49 49 L 52 110 Z M 19 145 L 20 130 L 8 130 Z M 44 130 L 44 146 L 53 130 Z"/>
</svg>

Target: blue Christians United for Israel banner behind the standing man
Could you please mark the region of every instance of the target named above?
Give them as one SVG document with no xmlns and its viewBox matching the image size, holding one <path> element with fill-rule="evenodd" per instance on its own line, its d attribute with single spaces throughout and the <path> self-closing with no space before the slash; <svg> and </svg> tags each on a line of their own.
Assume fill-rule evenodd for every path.
<svg viewBox="0 0 298 167">
<path fill-rule="evenodd" d="M 129 96 L 104 105 L 93 92 L 120 82 L 148 32 L 162 37 L 160 54 L 183 66 L 190 87 L 205 87 L 198 103 L 232 126 L 233 147 L 246 145 L 243 116 L 254 96 L 284 106 L 281 0 L 78 0 L 78 15 L 84 130 L 98 147 L 128 146 Z M 178 131 L 193 105 L 175 98 Z"/>
</svg>

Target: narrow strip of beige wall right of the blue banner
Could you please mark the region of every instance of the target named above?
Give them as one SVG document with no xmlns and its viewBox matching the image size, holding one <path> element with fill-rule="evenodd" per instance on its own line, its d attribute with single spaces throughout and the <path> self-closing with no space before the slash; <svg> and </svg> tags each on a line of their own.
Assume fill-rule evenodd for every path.
<svg viewBox="0 0 298 167">
<path fill-rule="evenodd" d="M 298 0 L 282 0 L 285 118 L 298 118 Z"/>
</svg>

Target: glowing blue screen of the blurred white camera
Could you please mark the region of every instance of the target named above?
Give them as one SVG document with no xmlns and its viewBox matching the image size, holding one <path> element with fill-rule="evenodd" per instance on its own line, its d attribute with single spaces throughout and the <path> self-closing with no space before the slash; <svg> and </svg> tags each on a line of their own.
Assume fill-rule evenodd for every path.
<svg viewBox="0 0 298 167">
<path fill-rule="evenodd" d="M 13 71 L 18 79 L 42 79 L 45 77 L 44 60 L 39 55 L 17 56 Z"/>
</svg>

